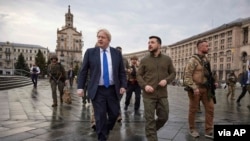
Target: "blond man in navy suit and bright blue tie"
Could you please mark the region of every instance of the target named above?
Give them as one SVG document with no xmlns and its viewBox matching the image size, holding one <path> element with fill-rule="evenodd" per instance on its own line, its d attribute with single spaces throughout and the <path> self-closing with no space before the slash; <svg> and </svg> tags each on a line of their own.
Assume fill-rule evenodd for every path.
<svg viewBox="0 0 250 141">
<path fill-rule="evenodd" d="M 82 97 L 89 72 L 87 91 L 93 103 L 99 141 L 106 141 L 113 129 L 120 110 L 119 97 L 127 87 L 122 54 L 110 47 L 110 41 L 108 30 L 97 32 L 97 47 L 86 50 L 78 76 L 77 94 Z"/>
</svg>

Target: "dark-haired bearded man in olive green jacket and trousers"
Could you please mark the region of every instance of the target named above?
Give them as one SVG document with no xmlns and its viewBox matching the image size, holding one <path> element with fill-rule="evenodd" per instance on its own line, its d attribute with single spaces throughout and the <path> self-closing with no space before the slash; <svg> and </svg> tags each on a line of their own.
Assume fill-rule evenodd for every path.
<svg viewBox="0 0 250 141">
<path fill-rule="evenodd" d="M 168 120 L 169 104 L 167 84 L 175 79 L 176 71 L 172 59 L 161 54 L 161 39 L 150 36 L 149 55 L 145 56 L 137 71 L 137 81 L 143 89 L 146 137 L 157 141 L 157 130 Z M 157 119 L 155 119 L 155 114 Z"/>
</svg>

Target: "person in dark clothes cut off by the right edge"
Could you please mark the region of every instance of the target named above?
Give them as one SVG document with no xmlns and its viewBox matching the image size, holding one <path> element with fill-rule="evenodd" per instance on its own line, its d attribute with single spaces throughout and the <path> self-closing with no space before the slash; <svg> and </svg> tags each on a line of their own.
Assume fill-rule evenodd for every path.
<svg viewBox="0 0 250 141">
<path fill-rule="evenodd" d="M 237 105 L 241 106 L 240 101 L 248 92 L 250 94 L 250 64 L 248 65 L 248 70 L 245 70 L 240 77 L 240 84 L 242 87 L 242 92 L 237 98 Z"/>
</svg>

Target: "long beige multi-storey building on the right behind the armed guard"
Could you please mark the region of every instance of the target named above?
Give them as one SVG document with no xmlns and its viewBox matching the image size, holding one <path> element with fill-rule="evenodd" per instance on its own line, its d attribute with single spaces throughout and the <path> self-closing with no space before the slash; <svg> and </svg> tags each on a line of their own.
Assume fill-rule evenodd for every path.
<svg viewBox="0 0 250 141">
<path fill-rule="evenodd" d="M 249 35 L 250 17 L 237 19 L 177 43 L 163 46 L 162 52 L 173 59 L 177 72 L 176 78 L 181 79 L 185 64 L 197 51 L 197 41 L 206 39 L 209 43 L 209 54 L 207 56 L 211 62 L 211 69 L 216 71 L 219 80 L 223 82 L 230 71 L 234 71 L 236 75 L 239 75 L 249 64 Z M 141 51 L 126 54 L 125 56 L 128 59 L 133 55 L 143 58 L 147 52 Z"/>
</svg>

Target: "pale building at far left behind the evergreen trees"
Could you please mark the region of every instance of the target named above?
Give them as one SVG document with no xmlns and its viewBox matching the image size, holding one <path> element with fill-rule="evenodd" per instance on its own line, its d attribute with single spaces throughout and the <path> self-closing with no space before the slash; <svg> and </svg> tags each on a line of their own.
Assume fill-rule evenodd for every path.
<svg viewBox="0 0 250 141">
<path fill-rule="evenodd" d="M 14 74 L 14 64 L 21 53 L 28 66 L 31 67 L 35 63 L 35 57 L 39 50 L 43 53 L 47 62 L 48 48 L 39 45 L 0 42 L 0 75 Z"/>
</svg>

